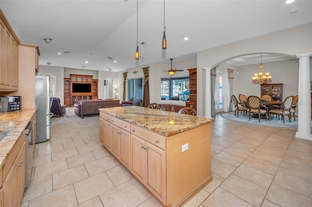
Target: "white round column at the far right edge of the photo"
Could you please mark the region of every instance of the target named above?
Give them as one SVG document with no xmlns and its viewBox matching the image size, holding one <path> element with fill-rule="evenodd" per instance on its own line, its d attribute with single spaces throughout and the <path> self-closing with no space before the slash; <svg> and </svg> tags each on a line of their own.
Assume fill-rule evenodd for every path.
<svg viewBox="0 0 312 207">
<path fill-rule="evenodd" d="M 296 138 L 312 140 L 310 57 L 312 53 L 297 55 L 299 58 L 298 131 Z"/>
</svg>

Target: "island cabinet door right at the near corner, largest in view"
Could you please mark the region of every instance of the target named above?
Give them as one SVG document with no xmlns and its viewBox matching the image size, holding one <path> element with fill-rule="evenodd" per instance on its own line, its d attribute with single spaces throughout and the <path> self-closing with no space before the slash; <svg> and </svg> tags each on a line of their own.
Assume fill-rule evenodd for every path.
<svg viewBox="0 0 312 207">
<path fill-rule="evenodd" d="M 166 199 L 166 152 L 146 142 L 146 187 L 160 201 Z"/>
</svg>

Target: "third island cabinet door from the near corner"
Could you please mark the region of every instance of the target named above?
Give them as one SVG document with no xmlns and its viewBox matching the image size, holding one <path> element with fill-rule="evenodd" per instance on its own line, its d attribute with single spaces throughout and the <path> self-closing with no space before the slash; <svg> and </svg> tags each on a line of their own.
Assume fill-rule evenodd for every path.
<svg viewBox="0 0 312 207">
<path fill-rule="evenodd" d="M 120 131 L 120 162 L 130 170 L 130 133 L 119 129 Z"/>
</svg>

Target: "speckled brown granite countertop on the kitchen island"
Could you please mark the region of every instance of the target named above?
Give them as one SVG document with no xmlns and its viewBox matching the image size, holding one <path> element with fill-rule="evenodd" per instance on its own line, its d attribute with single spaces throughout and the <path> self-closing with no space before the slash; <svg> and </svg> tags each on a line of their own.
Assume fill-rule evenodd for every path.
<svg viewBox="0 0 312 207">
<path fill-rule="evenodd" d="M 100 108 L 99 111 L 166 137 L 214 121 L 214 119 L 207 119 L 205 117 L 161 111 L 140 106 Z"/>
</svg>

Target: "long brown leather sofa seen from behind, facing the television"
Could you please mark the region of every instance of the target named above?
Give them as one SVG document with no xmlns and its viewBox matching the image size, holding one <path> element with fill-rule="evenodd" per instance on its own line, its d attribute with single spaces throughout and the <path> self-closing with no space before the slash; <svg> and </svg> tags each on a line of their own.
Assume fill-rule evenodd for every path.
<svg viewBox="0 0 312 207">
<path fill-rule="evenodd" d="M 118 99 L 95 99 L 95 100 L 80 100 L 74 104 L 75 114 L 83 119 L 85 115 L 99 114 L 99 108 L 117 107 L 119 106 Z"/>
</svg>

